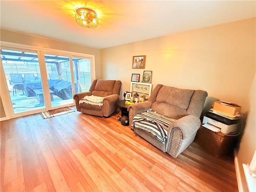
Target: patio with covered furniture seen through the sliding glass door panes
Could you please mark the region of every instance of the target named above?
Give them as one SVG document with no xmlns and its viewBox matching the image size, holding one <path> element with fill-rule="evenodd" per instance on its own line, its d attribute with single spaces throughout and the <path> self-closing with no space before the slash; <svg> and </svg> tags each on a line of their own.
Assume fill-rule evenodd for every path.
<svg viewBox="0 0 256 192">
<path fill-rule="evenodd" d="M 36 53 L 1 49 L 1 58 L 14 113 L 44 108 L 40 68 Z M 82 58 L 72 58 L 72 60 L 75 92 L 88 91 L 91 84 L 90 71 L 80 71 L 80 66 L 83 69 L 85 66 L 88 68 L 89 65 L 90 70 L 90 60 Z M 52 107 L 73 103 L 74 93 L 71 87 L 69 58 L 45 54 L 45 64 Z M 57 78 L 51 79 L 50 75 L 53 74 Z M 19 83 L 15 82 L 13 78 L 15 75 L 22 79 Z"/>
</svg>

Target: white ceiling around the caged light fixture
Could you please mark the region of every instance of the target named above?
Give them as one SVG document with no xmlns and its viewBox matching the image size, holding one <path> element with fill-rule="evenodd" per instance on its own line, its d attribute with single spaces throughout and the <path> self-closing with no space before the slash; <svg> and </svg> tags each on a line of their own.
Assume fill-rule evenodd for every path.
<svg viewBox="0 0 256 192">
<path fill-rule="evenodd" d="M 2 29 L 92 48 L 136 42 L 256 16 L 256 1 L 194 0 L 1 0 Z M 99 25 L 76 24 L 74 10 L 96 10 Z"/>
</svg>

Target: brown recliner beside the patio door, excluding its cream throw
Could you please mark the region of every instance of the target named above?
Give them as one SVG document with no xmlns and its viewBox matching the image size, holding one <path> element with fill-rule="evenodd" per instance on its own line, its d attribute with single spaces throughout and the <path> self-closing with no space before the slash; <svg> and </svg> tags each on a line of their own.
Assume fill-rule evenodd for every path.
<svg viewBox="0 0 256 192">
<path fill-rule="evenodd" d="M 88 92 L 82 92 L 74 95 L 76 109 L 84 114 L 108 117 L 118 109 L 117 102 L 122 82 L 119 80 L 94 80 Z M 102 106 L 80 103 L 85 96 L 104 97 Z"/>
</svg>

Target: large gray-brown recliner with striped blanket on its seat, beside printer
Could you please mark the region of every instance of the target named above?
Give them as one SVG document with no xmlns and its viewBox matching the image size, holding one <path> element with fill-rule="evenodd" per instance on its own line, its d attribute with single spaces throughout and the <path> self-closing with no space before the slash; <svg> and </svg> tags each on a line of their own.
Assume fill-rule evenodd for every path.
<svg viewBox="0 0 256 192">
<path fill-rule="evenodd" d="M 207 96 L 203 90 L 158 84 L 147 102 L 128 107 L 129 124 L 136 134 L 176 158 L 194 141 Z"/>
</svg>

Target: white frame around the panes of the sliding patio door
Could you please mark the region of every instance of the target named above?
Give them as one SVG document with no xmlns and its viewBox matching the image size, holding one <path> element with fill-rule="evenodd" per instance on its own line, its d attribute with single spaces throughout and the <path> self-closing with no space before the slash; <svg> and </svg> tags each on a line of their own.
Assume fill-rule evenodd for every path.
<svg viewBox="0 0 256 192">
<path fill-rule="evenodd" d="M 23 45 L 23 44 L 3 42 L 3 41 L 0 41 L 0 48 L 1 49 L 4 48 L 4 49 L 15 49 L 15 50 L 20 49 L 20 50 L 36 51 L 38 53 L 38 62 L 39 62 L 39 66 L 40 66 L 40 73 L 42 73 L 41 76 L 44 75 L 44 76 L 42 76 L 42 78 L 44 78 L 44 79 L 45 79 L 45 77 L 47 77 L 45 61 L 44 61 L 44 53 L 60 54 L 60 55 L 70 57 L 70 67 L 72 68 L 71 69 L 72 71 L 73 71 L 72 57 L 88 58 L 91 61 L 91 63 L 90 63 L 91 82 L 92 82 L 92 80 L 94 80 L 96 78 L 95 56 L 94 55 L 77 53 L 77 52 L 70 52 L 70 51 L 64 51 L 64 50 L 57 50 L 57 49 L 51 49 L 51 48 L 42 48 L 42 47 L 37 47 L 37 46 Z M 48 110 L 49 106 L 46 105 L 46 108 L 42 108 L 42 109 L 38 109 L 38 110 L 32 110 L 32 111 L 28 111 L 28 112 L 20 112 L 18 114 L 14 114 L 13 109 L 10 107 L 10 106 L 12 106 L 12 102 L 11 102 L 11 99 L 10 99 L 10 94 L 9 94 L 9 91 L 8 91 L 8 86 L 7 86 L 7 82 L 6 82 L 6 78 L 5 78 L 5 74 L 4 74 L 4 70 L 3 70 L 3 66 L 2 66 L 2 60 L 0 60 L 0 61 L 1 61 L 1 67 L 0 67 L 0 69 L 1 69 L 0 70 L 0 80 L 1 80 L 0 97 L 1 97 L 1 100 L 2 100 L 4 112 L 5 112 L 5 115 L 6 115 L 6 117 L 4 119 L 8 120 L 8 119 L 11 119 L 11 118 L 17 118 L 17 117 L 21 117 L 21 116 L 30 115 L 30 114 L 36 114 L 36 113 L 44 112 L 44 111 Z M 72 73 L 72 76 L 73 75 L 74 74 Z M 73 84 L 72 87 L 74 87 L 74 78 L 72 78 L 72 84 Z M 42 80 L 42 88 L 43 88 L 43 90 L 48 89 L 48 86 L 46 85 L 45 80 Z M 47 100 L 50 100 L 50 92 L 46 93 L 45 99 L 46 99 L 46 102 L 47 102 Z M 73 102 L 72 104 L 68 104 L 67 106 L 74 106 L 74 105 L 75 105 L 75 102 Z"/>
</svg>

